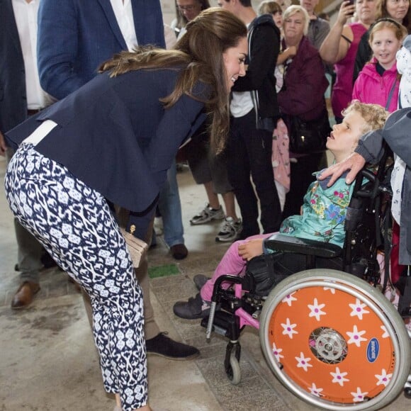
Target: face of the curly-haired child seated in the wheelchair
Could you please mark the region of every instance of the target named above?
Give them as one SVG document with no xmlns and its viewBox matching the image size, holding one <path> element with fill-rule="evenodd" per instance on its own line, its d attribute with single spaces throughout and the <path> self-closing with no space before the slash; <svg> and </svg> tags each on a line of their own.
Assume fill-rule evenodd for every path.
<svg viewBox="0 0 411 411">
<path fill-rule="evenodd" d="M 327 149 L 334 154 L 335 161 L 341 162 L 356 149 L 366 121 L 358 111 L 350 111 L 341 124 L 332 128 L 327 138 Z"/>
</svg>

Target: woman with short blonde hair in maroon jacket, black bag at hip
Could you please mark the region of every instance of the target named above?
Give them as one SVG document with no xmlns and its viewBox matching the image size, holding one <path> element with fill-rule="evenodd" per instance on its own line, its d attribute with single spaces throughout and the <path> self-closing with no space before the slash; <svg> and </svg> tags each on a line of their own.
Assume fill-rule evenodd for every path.
<svg viewBox="0 0 411 411">
<path fill-rule="evenodd" d="M 283 13 L 284 38 L 281 48 L 295 50 L 284 63 L 283 86 L 277 97 L 281 117 L 290 135 L 291 184 L 286 195 L 283 218 L 298 214 L 305 191 L 313 181 L 312 173 L 320 167 L 325 139 L 330 131 L 324 98 L 328 81 L 320 55 L 306 37 L 309 23 L 308 13 L 302 6 L 290 6 Z M 298 120 L 324 126 L 322 147 L 310 152 L 293 152 L 293 133 L 298 133 L 293 124 Z"/>
</svg>

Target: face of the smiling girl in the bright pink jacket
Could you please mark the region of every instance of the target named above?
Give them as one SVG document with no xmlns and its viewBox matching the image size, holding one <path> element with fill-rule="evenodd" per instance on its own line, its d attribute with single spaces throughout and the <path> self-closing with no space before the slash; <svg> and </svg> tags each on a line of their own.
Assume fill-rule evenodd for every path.
<svg viewBox="0 0 411 411">
<path fill-rule="evenodd" d="M 384 69 L 390 69 L 395 63 L 395 55 L 401 47 L 401 41 L 390 28 L 383 28 L 372 35 L 371 50 Z"/>
</svg>

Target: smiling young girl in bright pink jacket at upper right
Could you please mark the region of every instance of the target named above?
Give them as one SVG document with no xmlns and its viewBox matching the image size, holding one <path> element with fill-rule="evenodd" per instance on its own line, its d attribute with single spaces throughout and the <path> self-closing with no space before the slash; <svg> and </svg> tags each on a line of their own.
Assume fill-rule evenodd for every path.
<svg viewBox="0 0 411 411">
<path fill-rule="evenodd" d="M 380 104 L 390 113 L 397 110 L 400 77 L 395 55 L 405 35 L 405 27 L 391 18 L 381 18 L 373 24 L 369 39 L 373 58 L 356 79 L 353 100 Z"/>
</svg>

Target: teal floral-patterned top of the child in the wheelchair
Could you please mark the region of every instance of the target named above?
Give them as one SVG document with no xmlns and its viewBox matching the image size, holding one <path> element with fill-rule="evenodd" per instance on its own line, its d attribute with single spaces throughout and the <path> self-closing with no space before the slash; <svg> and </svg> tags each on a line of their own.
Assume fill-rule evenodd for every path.
<svg viewBox="0 0 411 411">
<path fill-rule="evenodd" d="M 318 176 L 321 171 L 315 175 Z M 344 221 L 354 184 L 348 185 L 345 176 L 332 187 L 327 181 L 314 181 L 304 196 L 302 215 L 291 215 L 281 224 L 280 232 L 293 237 L 344 244 Z"/>
</svg>

